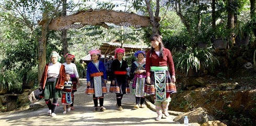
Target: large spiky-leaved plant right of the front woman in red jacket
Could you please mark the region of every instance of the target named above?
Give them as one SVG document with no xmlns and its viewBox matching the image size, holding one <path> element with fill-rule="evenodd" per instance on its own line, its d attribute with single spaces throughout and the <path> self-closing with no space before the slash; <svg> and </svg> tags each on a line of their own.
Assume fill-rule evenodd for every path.
<svg viewBox="0 0 256 126">
<path fill-rule="evenodd" d="M 191 76 L 199 76 L 200 68 L 214 68 L 213 49 L 208 48 L 191 48 L 184 52 L 175 52 L 173 54 L 173 62 L 176 69 L 180 69 L 182 73 L 190 77 L 191 72 L 195 72 Z"/>
</svg>

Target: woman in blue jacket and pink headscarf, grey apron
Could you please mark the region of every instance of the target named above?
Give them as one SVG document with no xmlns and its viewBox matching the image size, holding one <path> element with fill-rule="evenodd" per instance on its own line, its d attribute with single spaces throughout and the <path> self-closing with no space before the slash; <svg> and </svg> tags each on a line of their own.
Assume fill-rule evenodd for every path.
<svg viewBox="0 0 256 126">
<path fill-rule="evenodd" d="M 100 111 L 106 110 L 103 107 L 104 94 L 106 94 L 107 87 L 107 71 L 102 61 L 99 61 L 100 50 L 90 50 L 92 61 L 87 66 L 87 89 L 86 94 L 92 94 L 94 99 L 94 109 L 98 110 L 98 97 L 100 102 Z"/>
</svg>

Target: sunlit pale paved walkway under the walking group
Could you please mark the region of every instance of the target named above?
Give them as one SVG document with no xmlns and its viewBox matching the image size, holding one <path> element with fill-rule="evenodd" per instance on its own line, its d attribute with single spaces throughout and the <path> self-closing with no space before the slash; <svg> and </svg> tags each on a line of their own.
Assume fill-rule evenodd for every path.
<svg viewBox="0 0 256 126">
<path fill-rule="evenodd" d="M 149 108 L 138 108 L 133 110 L 135 97 L 132 94 L 125 94 L 122 100 L 123 110 L 115 107 L 116 99 L 114 93 L 104 95 L 104 107 L 106 111 L 92 111 L 94 103 L 92 95 L 85 94 L 86 79 L 75 92 L 75 110 L 63 115 L 63 105 L 56 109 L 56 117 L 46 115 L 48 108 L 45 106 L 38 110 L 25 110 L 0 115 L 1 125 L 183 125 L 172 120 L 176 116 L 162 118 L 155 121 L 157 114 Z M 110 81 L 107 87 L 110 86 Z M 40 101 L 43 103 L 44 101 Z M 59 99 L 59 104 L 61 104 Z M 45 105 L 45 103 L 43 104 Z"/>
</svg>

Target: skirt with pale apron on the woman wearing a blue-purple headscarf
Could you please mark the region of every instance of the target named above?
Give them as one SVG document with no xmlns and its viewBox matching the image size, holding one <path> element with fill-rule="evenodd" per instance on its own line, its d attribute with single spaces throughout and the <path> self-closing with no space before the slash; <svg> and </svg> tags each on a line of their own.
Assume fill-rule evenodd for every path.
<svg viewBox="0 0 256 126">
<path fill-rule="evenodd" d="M 145 82 L 145 74 L 135 74 L 132 85 L 132 94 L 134 94 L 136 97 L 144 97 L 146 95 L 144 92 Z"/>
</svg>

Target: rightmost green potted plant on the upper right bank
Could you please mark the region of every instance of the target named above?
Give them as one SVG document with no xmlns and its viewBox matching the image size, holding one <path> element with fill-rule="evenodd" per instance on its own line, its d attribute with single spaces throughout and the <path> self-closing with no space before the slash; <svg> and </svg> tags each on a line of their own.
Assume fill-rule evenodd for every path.
<svg viewBox="0 0 256 126">
<path fill-rule="evenodd" d="M 241 23 L 238 23 L 234 31 L 236 46 L 247 46 L 249 43 L 251 32 L 250 24 L 246 23 L 245 25 L 242 25 Z"/>
</svg>

